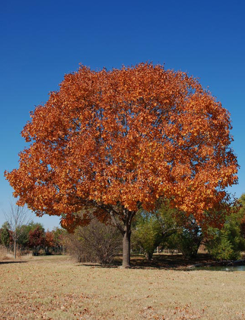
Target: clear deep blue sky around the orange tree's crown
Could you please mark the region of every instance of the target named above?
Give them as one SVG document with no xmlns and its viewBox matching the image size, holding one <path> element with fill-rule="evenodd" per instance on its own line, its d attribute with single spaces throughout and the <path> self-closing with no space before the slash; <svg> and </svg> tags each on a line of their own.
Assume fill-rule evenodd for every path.
<svg viewBox="0 0 245 320">
<path fill-rule="evenodd" d="M 29 112 L 78 64 L 120 68 L 145 61 L 200 78 L 231 113 L 245 192 L 245 1 L 3 1 L 0 10 L 0 225 Z M 35 218 L 45 228 L 59 218 Z"/>
</svg>

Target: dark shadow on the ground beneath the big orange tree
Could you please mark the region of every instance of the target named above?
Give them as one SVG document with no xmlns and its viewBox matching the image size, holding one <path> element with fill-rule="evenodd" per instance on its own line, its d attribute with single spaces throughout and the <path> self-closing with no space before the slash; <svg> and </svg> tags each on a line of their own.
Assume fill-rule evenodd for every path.
<svg viewBox="0 0 245 320">
<path fill-rule="evenodd" d="M 212 262 L 208 254 L 198 254 L 196 258 L 187 259 L 181 254 L 159 254 L 153 255 L 152 260 L 148 260 L 143 255 L 131 255 L 131 269 L 165 269 L 165 270 L 186 270 L 186 267 L 197 264 Z M 112 264 L 102 265 L 97 263 L 79 263 L 77 266 L 90 266 L 92 268 L 118 268 L 122 265 L 122 255 L 115 257 Z"/>
</svg>

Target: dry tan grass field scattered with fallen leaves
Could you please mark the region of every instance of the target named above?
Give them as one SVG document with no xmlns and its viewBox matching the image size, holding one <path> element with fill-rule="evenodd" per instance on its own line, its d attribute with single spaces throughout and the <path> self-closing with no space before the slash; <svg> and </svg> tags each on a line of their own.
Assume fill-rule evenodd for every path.
<svg viewBox="0 0 245 320">
<path fill-rule="evenodd" d="M 0 262 L 0 320 L 244 320 L 245 272 Z"/>
</svg>

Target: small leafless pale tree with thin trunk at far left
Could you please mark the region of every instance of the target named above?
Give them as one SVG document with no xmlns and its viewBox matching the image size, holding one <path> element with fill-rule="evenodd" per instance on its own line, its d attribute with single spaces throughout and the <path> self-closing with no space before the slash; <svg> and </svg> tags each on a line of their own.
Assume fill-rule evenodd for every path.
<svg viewBox="0 0 245 320">
<path fill-rule="evenodd" d="M 14 242 L 14 258 L 16 259 L 16 243 L 24 232 L 25 225 L 30 220 L 29 211 L 26 206 L 21 207 L 16 202 L 10 202 L 10 209 L 4 212 L 4 215 L 11 231 Z"/>
</svg>

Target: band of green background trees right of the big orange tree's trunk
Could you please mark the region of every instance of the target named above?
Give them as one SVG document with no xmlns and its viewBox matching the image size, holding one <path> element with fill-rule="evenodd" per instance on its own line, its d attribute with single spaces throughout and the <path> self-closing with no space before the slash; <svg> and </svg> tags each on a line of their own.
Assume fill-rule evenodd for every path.
<svg viewBox="0 0 245 320">
<path fill-rule="evenodd" d="M 153 257 L 158 246 L 193 258 L 202 243 L 214 259 L 238 259 L 245 251 L 245 195 L 239 201 L 240 210 L 227 215 L 222 228 L 206 228 L 198 224 L 194 216 L 186 216 L 168 205 L 154 213 L 141 211 L 134 224 L 133 248 L 140 248 L 148 259 Z"/>
</svg>

